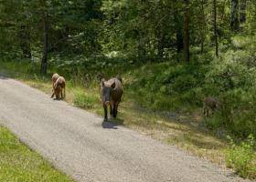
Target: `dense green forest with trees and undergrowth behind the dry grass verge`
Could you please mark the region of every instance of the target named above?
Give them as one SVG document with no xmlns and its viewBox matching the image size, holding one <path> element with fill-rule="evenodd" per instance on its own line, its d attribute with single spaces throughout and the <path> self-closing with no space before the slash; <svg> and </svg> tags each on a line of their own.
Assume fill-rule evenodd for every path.
<svg viewBox="0 0 256 182">
<path fill-rule="evenodd" d="M 130 102 L 202 116 L 208 128 L 256 136 L 256 1 L 1 0 L 0 61 L 90 87 L 123 77 Z"/>
</svg>

